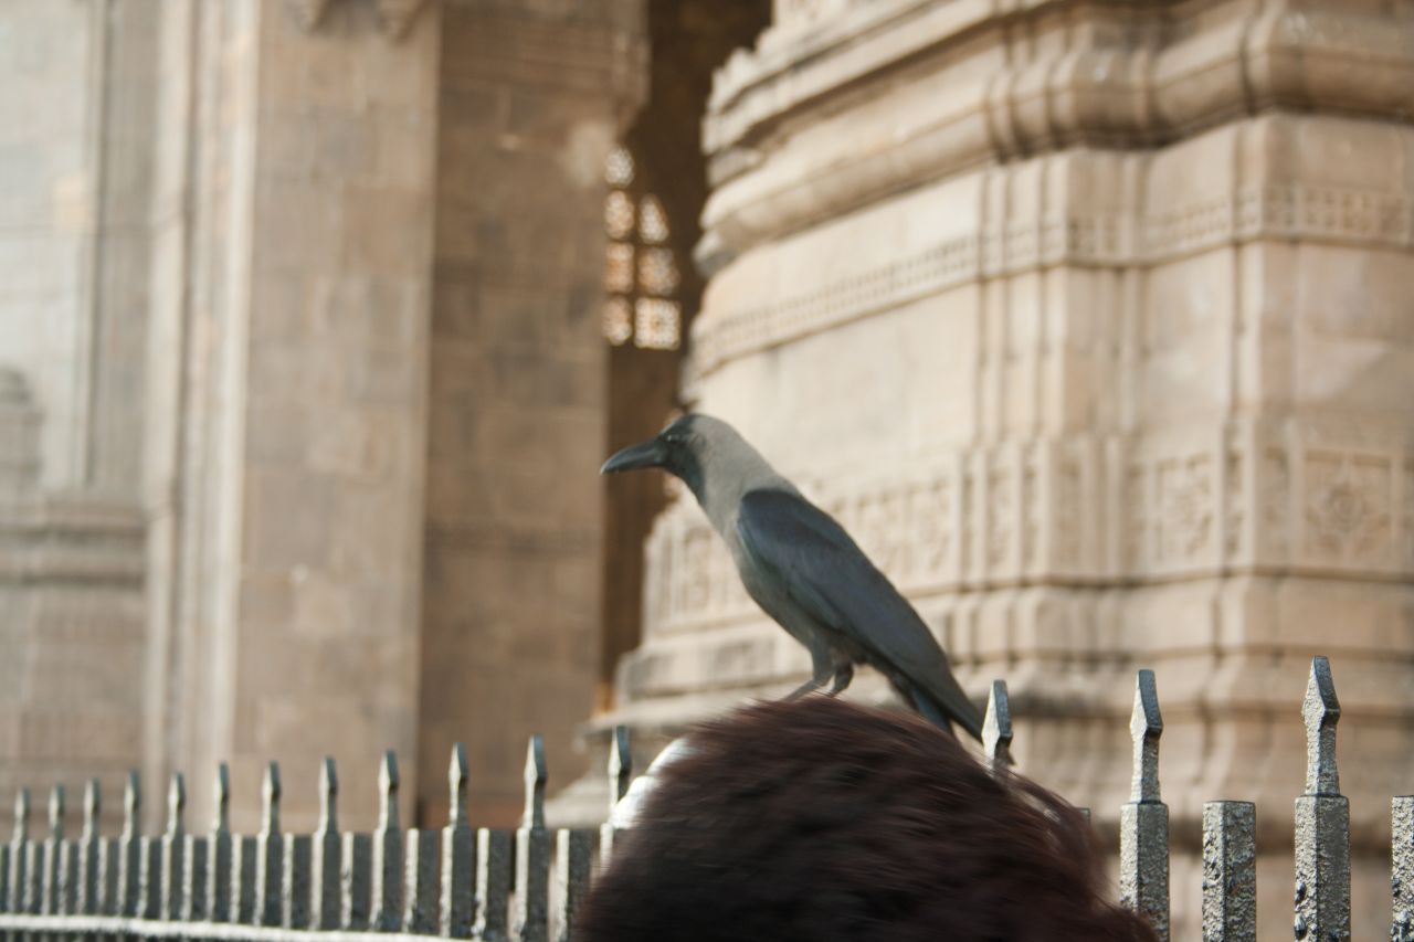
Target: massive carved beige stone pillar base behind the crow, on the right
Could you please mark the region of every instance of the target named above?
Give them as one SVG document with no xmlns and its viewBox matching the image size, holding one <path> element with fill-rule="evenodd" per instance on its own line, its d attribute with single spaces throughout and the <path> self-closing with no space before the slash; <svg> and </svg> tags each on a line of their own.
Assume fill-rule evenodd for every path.
<svg viewBox="0 0 1414 942">
<path fill-rule="evenodd" d="M 1356 935 L 1387 912 L 1414 745 L 1391 656 L 1414 644 L 1411 76 L 1408 20 L 1360 3 L 779 0 L 714 88 L 686 393 L 844 522 L 978 699 L 1008 680 L 1019 768 L 1110 833 L 1131 670 L 1155 670 L 1175 936 L 1213 798 L 1257 801 L 1261 922 L 1287 931 L 1318 652 L 1363 769 Z M 690 495 L 646 553 L 605 726 L 800 679 Z"/>
</svg>

